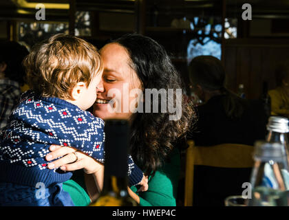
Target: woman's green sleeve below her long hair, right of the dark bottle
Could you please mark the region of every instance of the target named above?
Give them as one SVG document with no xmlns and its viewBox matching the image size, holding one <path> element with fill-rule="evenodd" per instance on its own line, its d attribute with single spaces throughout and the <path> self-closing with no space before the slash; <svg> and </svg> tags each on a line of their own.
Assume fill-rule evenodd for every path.
<svg viewBox="0 0 289 220">
<path fill-rule="evenodd" d="M 140 206 L 176 206 L 180 174 L 180 153 L 177 148 L 172 151 L 170 158 L 170 162 L 149 177 L 149 189 L 136 193 L 140 197 Z M 136 192 L 137 188 L 132 186 L 131 190 Z"/>
</svg>

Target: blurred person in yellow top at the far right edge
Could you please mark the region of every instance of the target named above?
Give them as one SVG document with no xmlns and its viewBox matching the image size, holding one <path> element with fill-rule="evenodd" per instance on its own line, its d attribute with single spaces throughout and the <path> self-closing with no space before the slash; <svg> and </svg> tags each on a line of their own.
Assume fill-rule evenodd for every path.
<svg viewBox="0 0 289 220">
<path fill-rule="evenodd" d="M 268 91 L 271 114 L 289 118 L 289 61 L 281 63 L 275 71 L 275 89 Z"/>
</svg>

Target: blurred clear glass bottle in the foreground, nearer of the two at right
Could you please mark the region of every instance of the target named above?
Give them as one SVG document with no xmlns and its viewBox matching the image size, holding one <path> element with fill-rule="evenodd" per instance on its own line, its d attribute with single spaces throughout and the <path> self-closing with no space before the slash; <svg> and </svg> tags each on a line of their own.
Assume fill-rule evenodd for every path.
<svg viewBox="0 0 289 220">
<path fill-rule="evenodd" d="M 256 142 L 248 206 L 288 206 L 288 159 L 277 142 Z"/>
</svg>

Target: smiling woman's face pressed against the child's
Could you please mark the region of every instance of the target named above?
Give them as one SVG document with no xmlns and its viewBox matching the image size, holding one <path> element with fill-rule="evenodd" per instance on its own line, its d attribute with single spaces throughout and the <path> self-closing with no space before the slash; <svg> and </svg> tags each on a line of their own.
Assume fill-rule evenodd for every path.
<svg viewBox="0 0 289 220">
<path fill-rule="evenodd" d="M 104 71 L 97 89 L 97 99 L 94 103 L 94 115 L 103 120 L 107 118 L 129 119 L 131 111 L 129 104 L 135 97 L 129 96 L 132 89 L 141 89 L 142 84 L 136 72 L 129 66 L 129 54 L 118 43 L 109 43 L 100 50 Z M 134 90 L 133 90 L 134 91 Z M 112 97 L 111 97 L 112 94 Z M 121 109 L 114 111 L 116 103 L 109 104 L 115 98 Z M 112 102 L 112 101 L 111 101 Z M 116 110 L 116 109 L 115 109 Z"/>
</svg>

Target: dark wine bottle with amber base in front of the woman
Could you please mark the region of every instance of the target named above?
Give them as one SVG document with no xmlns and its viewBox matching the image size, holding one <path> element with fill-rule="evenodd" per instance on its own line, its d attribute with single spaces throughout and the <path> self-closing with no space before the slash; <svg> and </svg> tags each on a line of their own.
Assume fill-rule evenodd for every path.
<svg viewBox="0 0 289 220">
<path fill-rule="evenodd" d="M 89 206 L 137 206 L 127 191 L 129 122 L 105 121 L 105 176 L 103 190 Z"/>
</svg>

